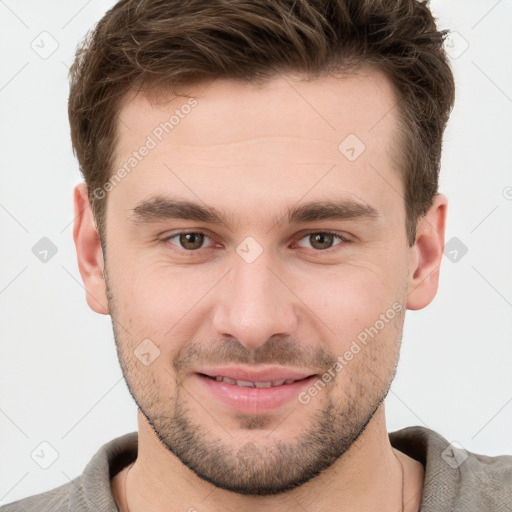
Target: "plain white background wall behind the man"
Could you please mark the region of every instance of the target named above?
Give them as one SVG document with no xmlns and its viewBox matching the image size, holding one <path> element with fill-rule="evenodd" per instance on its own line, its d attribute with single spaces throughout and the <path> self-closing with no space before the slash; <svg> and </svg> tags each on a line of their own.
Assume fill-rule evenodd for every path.
<svg viewBox="0 0 512 512">
<path fill-rule="evenodd" d="M 68 482 L 137 428 L 110 318 L 89 310 L 72 242 L 81 177 L 68 67 L 113 3 L 0 1 L 0 503 Z M 437 0 L 432 10 L 454 31 L 441 191 L 446 241 L 459 249 L 457 261 L 443 257 L 432 304 L 406 314 L 388 430 L 424 425 L 467 450 L 512 454 L 512 1 Z M 45 263 L 32 252 L 43 237 L 57 250 Z M 38 453 L 40 464 L 56 460 L 43 469 Z"/>
</svg>

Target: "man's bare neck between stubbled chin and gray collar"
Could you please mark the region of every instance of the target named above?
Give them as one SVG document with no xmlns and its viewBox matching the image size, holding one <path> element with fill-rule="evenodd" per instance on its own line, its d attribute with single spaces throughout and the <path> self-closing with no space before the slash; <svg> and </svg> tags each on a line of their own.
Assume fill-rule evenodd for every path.
<svg viewBox="0 0 512 512">
<path fill-rule="evenodd" d="M 129 472 L 126 468 L 118 475 L 113 486 L 121 512 L 141 512 L 148 508 L 154 512 L 196 508 L 202 512 L 230 509 L 287 512 L 297 507 L 308 512 L 399 512 L 402 483 L 404 512 L 417 512 L 420 506 L 423 466 L 392 448 L 382 405 L 335 464 L 302 486 L 273 496 L 242 496 L 202 480 L 160 443 L 140 411 L 138 422 L 137 460 Z M 403 482 L 400 461 L 405 475 Z"/>
</svg>

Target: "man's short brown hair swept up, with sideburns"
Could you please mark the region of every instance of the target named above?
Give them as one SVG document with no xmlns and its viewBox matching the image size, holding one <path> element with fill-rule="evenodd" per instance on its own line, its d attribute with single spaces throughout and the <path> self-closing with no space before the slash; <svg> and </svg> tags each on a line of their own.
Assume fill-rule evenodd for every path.
<svg viewBox="0 0 512 512">
<path fill-rule="evenodd" d="M 68 113 L 101 234 L 123 97 L 135 86 L 172 91 L 215 79 L 314 78 L 371 65 L 398 97 L 396 165 L 407 240 L 438 189 L 442 136 L 455 99 L 429 2 L 419 0 L 121 0 L 90 31 L 70 69 Z"/>
</svg>

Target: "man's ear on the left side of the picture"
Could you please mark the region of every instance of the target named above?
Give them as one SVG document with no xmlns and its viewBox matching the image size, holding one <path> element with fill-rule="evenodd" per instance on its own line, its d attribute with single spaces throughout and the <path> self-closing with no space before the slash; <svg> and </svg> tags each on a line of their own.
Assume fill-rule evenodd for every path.
<svg viewBox="0 0 512 512">
<path fill-rule="evenodd" d="M 74 189 L 74 207 L 73 239 L 87 304 L 96 313 L 108 315 L 108 300 L 103 277 L 103 250 L 85 183 L 78 184 Z"/>
</svg>

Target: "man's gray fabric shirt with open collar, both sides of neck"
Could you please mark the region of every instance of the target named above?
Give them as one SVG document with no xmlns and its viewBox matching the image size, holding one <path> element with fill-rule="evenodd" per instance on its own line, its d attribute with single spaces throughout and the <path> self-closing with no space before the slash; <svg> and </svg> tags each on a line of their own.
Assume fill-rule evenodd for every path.
<svg viewBox="0 0 512 512">
<path fill-rule="evenodd" d="M 390 432 L 392 446 L 425 467 L 420 512 L 512 512 L 512 455 L 488 457 L 455 449 L 425 427 Z M 443 455 L 444 452 L 444 455 Z M 454 462 L 467 453 L 458 465 Z M 82 475 L 60 487 L 0 507 L 0 512 L 118 512 L 111 478 L 137 456 L 137 432 L 103 445 Z"/>
</svg>

